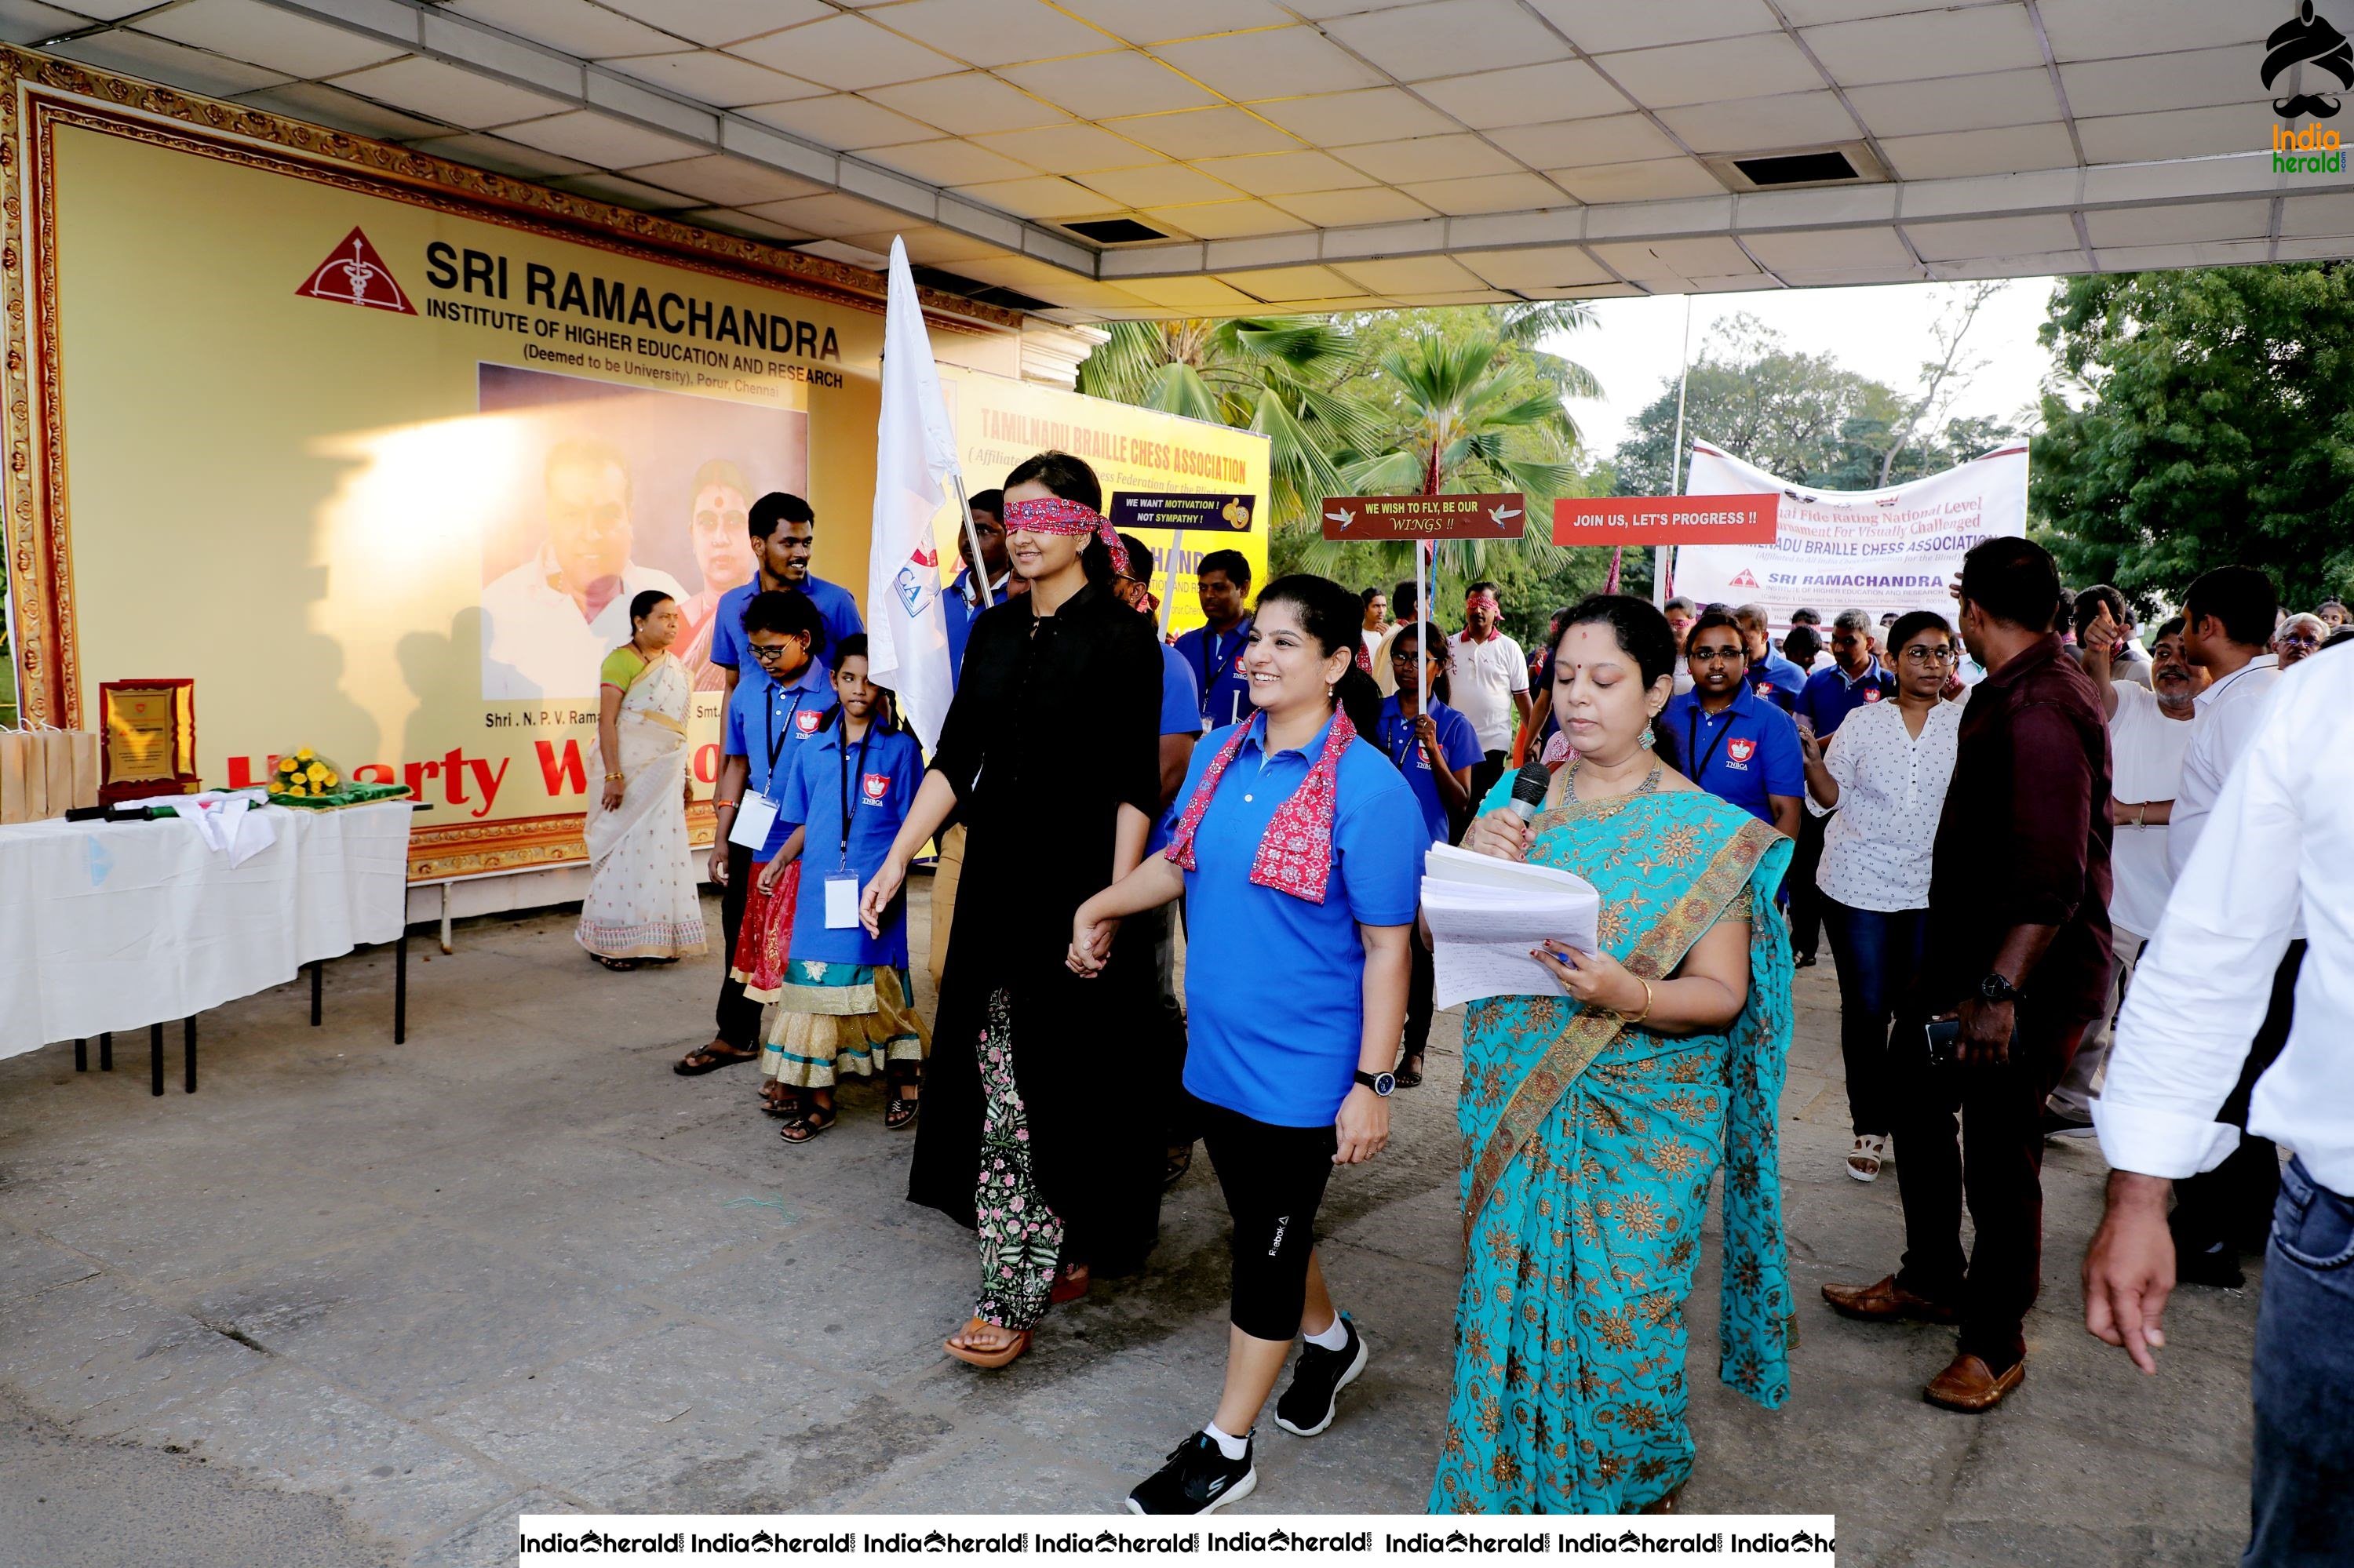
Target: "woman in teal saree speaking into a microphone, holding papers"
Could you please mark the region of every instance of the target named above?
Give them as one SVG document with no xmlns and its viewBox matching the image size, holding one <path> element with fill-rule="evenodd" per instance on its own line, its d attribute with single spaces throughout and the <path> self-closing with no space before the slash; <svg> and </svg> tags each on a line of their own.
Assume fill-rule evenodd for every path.
<svg viewBox="0 0 2354 1568">
<path fill-rule="evenodd" d="M 1492 810 L 1464 845 L 1575 871 L 1603 954 L 1549 944 L 1563 996 L 1464 1015 L 1464 1285 L 1441 1514 L 1674 1507 L 1693 1471 L 1683 1300 L 1725 1172 L 1718 1375 L 1789 1396 L 1794 1335 L 1775 1102 L 1789 1052 L 1791 843 L 1660 760 L 1674 640 L 1596 596 L 1554 647 L 1577 760 L 1532 824 Z"/>
</svg>

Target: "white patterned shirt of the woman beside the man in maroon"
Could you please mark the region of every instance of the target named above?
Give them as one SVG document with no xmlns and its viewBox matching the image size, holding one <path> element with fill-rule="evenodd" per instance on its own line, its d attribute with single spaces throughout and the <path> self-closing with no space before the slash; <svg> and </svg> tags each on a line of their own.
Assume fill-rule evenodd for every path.
<svg viewBox="0 0 2354 1568">
<path fill-rule="evenodd" d="M 1928 711 L 1919 739 L 1904 709 L 1867 702 L 1838 723 L 1822 753 L 1838 779 L 1838 815 L 1822 829 L 1815 885 L 1848 909 L 1928 909 L 1937 817 L 1961 751 L 1961 704 Z M 1806 810 L 1829 815 L 1808 791 Z"/>
</svg>

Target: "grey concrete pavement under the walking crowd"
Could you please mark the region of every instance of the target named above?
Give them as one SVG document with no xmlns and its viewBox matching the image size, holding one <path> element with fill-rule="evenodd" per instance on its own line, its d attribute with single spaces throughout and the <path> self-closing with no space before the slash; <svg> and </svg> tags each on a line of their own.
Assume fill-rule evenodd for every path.
<svg viewBox="0 0 2354 1568">
<path fill-rule="evenodd" d="M 920 954 L 920 888 L 913 904 Z M 511 1563 L 518 1511 L 1118 1507 L 1217 1398 L 1208 1163 L 1170 1196 L 1142 1281 L 975 1373 L 939 1354 L 970 1241 L 904 1203 L 909 1135 L 883 1132 L 873 1090 L 793 1149 L 751 1109 L 753 1069 L 669 1071 L 709 1038 L 713 986 L 713 958 L 607 975 L 567 916 L 499 918 L 461 928 L 452 958 L 417 944 L 403 1048 L 391 958 L 363 954 L 332 965 L 325 1029 L 299 984 L 207 1015 L 193 1097 L 177 1057 L 148 1097 L 144 1041 L 118 1041 L 115 1074 L 75 1074 L 71 1043 L 0 1062 L 0 1568 Z M 1685 1507 L 1838 1514 L 1841 1561 L 1888 1568 L 2234 1561 L 2255 1295 L 2182 1293 L 2156 1380 L 2088 1340 L 2090 1142 L 2046 1161 L 2046 1295 L 2027 1384 L 1994 1415 L 1921 1403 L 1949 1333 L 1820 1304 L 1822 1281 L 1876 1278 L 1902 1238 L 1893 1172 L 1860 1187 L 1838 1168 L 1836 1005 L 1827 968 L 1798 977 L 1796 1391 L 1766 1413 L 1714 1377 L 1711 1220 Z M 1422 1509 L 1457 1278 L 1457 1067 L 1441 1015 L 1391 1151 L 1332 1182 L 1325 1267 L 1375 1361 L 1325 1436 L 1262 1424 L 1238 1511 Z"/>
</svg>

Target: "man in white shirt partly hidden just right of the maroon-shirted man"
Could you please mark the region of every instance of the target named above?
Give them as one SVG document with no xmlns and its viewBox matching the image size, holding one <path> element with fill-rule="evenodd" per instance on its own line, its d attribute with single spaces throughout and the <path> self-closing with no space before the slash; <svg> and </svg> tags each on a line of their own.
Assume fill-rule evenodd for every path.
<svg viewBox="0 0 2354 1568">
<path fill-rule="evenodd" d="M 2116 1038 L 2107 1017 L 2116 1015 L 2133 961 L 2159 928 L 2166 895 L 2175 885 L 2166 859 L 2166 826 L 2182 782 L 2182 753 L 2199 727 L 2199 692 L 2206 690 L 2206 671 L 2182 650 L 2182 617 L 2159 626 L 2152 685 L 2116 673 L 2116 617 L 2100 605 L 2083 636 L 2083 673 L 2109 713 L 2109 815 L 2116 822 L 2116 838 L 2109 841 L 2109 1010 L 2076 1048 L 2076 1059 L 2043 1111 L 2043 1132 L 2062 1137 L 2093 1132 L 2093 1085 L 2109 1057 L 2109 1041 Z"/>
</svg>

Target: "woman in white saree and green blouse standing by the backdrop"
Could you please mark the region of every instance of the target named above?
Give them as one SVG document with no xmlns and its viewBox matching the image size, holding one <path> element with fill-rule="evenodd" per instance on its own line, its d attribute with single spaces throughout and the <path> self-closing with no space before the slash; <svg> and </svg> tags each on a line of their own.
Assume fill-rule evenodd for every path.
<svg viewBox="0 0 2354 1568">
<path fill-rule="evenodd" d="M 588 808 L 588 897 L 574 937 L 607 970 L 694 958 L 704 904 L 687 855 L 687 709 L 694 680 L 671 655 L 678 605 L 647 589 L 629 605 L 629 643 L 598 671 Z"/>
</svg>

